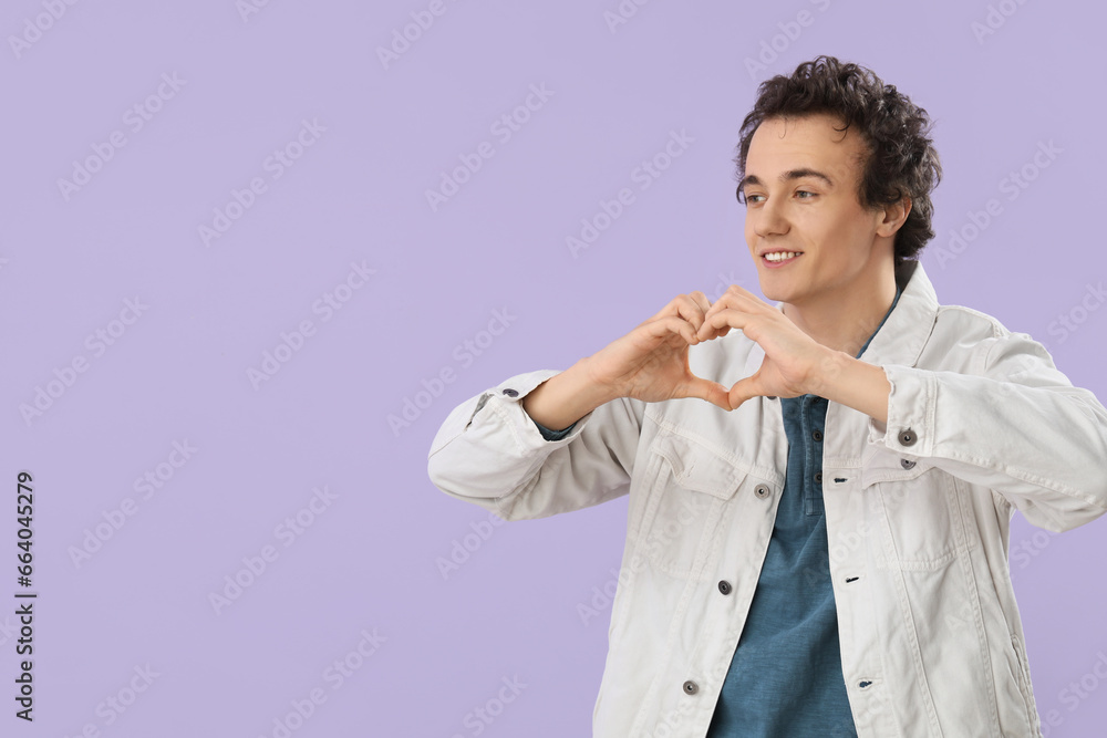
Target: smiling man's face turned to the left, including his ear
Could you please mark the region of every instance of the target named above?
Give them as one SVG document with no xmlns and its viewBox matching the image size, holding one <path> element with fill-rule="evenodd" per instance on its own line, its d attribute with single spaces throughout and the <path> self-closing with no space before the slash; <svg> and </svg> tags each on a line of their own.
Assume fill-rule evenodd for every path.
<svg viewBox="0 0 1107 738">
<path fill-rule="evenodd" d="M 857 199 L 865 145 L 826 114 L 770 118 L 754 132 L 742 189 L 746 243 L 762 292 L 797 306 L 834 304 L 873 289 L 892 262 L 892 238 L 878 235 L 882 210 Z M 881 229 L 887 232 L 887 228 Z"/>
</svg>

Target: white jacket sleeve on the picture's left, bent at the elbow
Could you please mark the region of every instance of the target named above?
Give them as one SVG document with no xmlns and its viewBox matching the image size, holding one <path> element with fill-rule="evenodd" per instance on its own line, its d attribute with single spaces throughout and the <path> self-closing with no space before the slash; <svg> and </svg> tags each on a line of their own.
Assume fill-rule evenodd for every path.
<svg viewBox="0 0 1107 738">
<path fill-rule="evenodd" d="M 625 495 L 645 403 L 606 403 L 563 438 L 547 440 L 523 399 L 556 374 L 518 374 L 451 410 L 427 455 L 435 487 L 504 520 L 545 518 Z"/>
</svg>

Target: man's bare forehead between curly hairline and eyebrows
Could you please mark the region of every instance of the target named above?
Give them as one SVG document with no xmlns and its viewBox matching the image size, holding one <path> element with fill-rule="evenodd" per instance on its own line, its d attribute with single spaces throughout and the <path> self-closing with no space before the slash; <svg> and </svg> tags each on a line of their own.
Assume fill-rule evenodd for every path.
<svg viewBox="0 0 1107 738">
<path fill-rule="evenodd" d="M 746 174 L 762 181 L 776 173 L 810 167 L 836 180 L 856 180 L 865 144 L 857 126 L 827 114 L 767 118 L 757 126 L 746 154 Z"/>
</svg>

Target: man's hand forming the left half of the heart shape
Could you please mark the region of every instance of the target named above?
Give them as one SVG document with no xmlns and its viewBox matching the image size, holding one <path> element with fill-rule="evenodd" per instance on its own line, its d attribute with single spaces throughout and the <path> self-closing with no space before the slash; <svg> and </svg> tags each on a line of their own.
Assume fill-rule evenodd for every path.
<svg viewBox="0 0 1107 738">
<path fill-rule="evenodd" d="M 689 368 L 689 346 L 696 337 L 705 313 L 714 310 L 699 290 L 680 294 L 653 318 L 588 357 L 589 376 L 611 397 L 634 397 L 648 403 L 677 397 L 699 397 L 733 409 L 727 388 L 718 382 L 695 376 Z"/>
</svg>

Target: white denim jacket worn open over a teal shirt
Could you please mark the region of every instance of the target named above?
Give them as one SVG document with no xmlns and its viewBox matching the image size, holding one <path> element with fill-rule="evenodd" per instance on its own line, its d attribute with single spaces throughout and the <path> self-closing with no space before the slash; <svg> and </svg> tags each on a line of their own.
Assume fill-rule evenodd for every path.
<svg viewBox="0 0 1107 738">
<path fill-rule="evenodd" d="M 1008 526 L 1015 509 L 1055 532 L 1107 511 L 1107 410 L 1030 336 L 939 305 L 921 264 L 897 279 L 899 303 L 861 356 L 891 383 L 887 429 L 829 403 L 824 436 L 857 734 L 1039 736 Z M 764 353 L 732 331 L 689 356 L 697 376 L 730 386 Z M 451 412 L 431 447 L 431 479 L 506 520 L 629 493 L 593 736 L 701 738 L 784 489 L 780 402 L 756 397 L 727 413 L 701 399 L 621 398 L 549 441 L 520 401 L 555 374 L 513 376 Z"/>
</svg>

